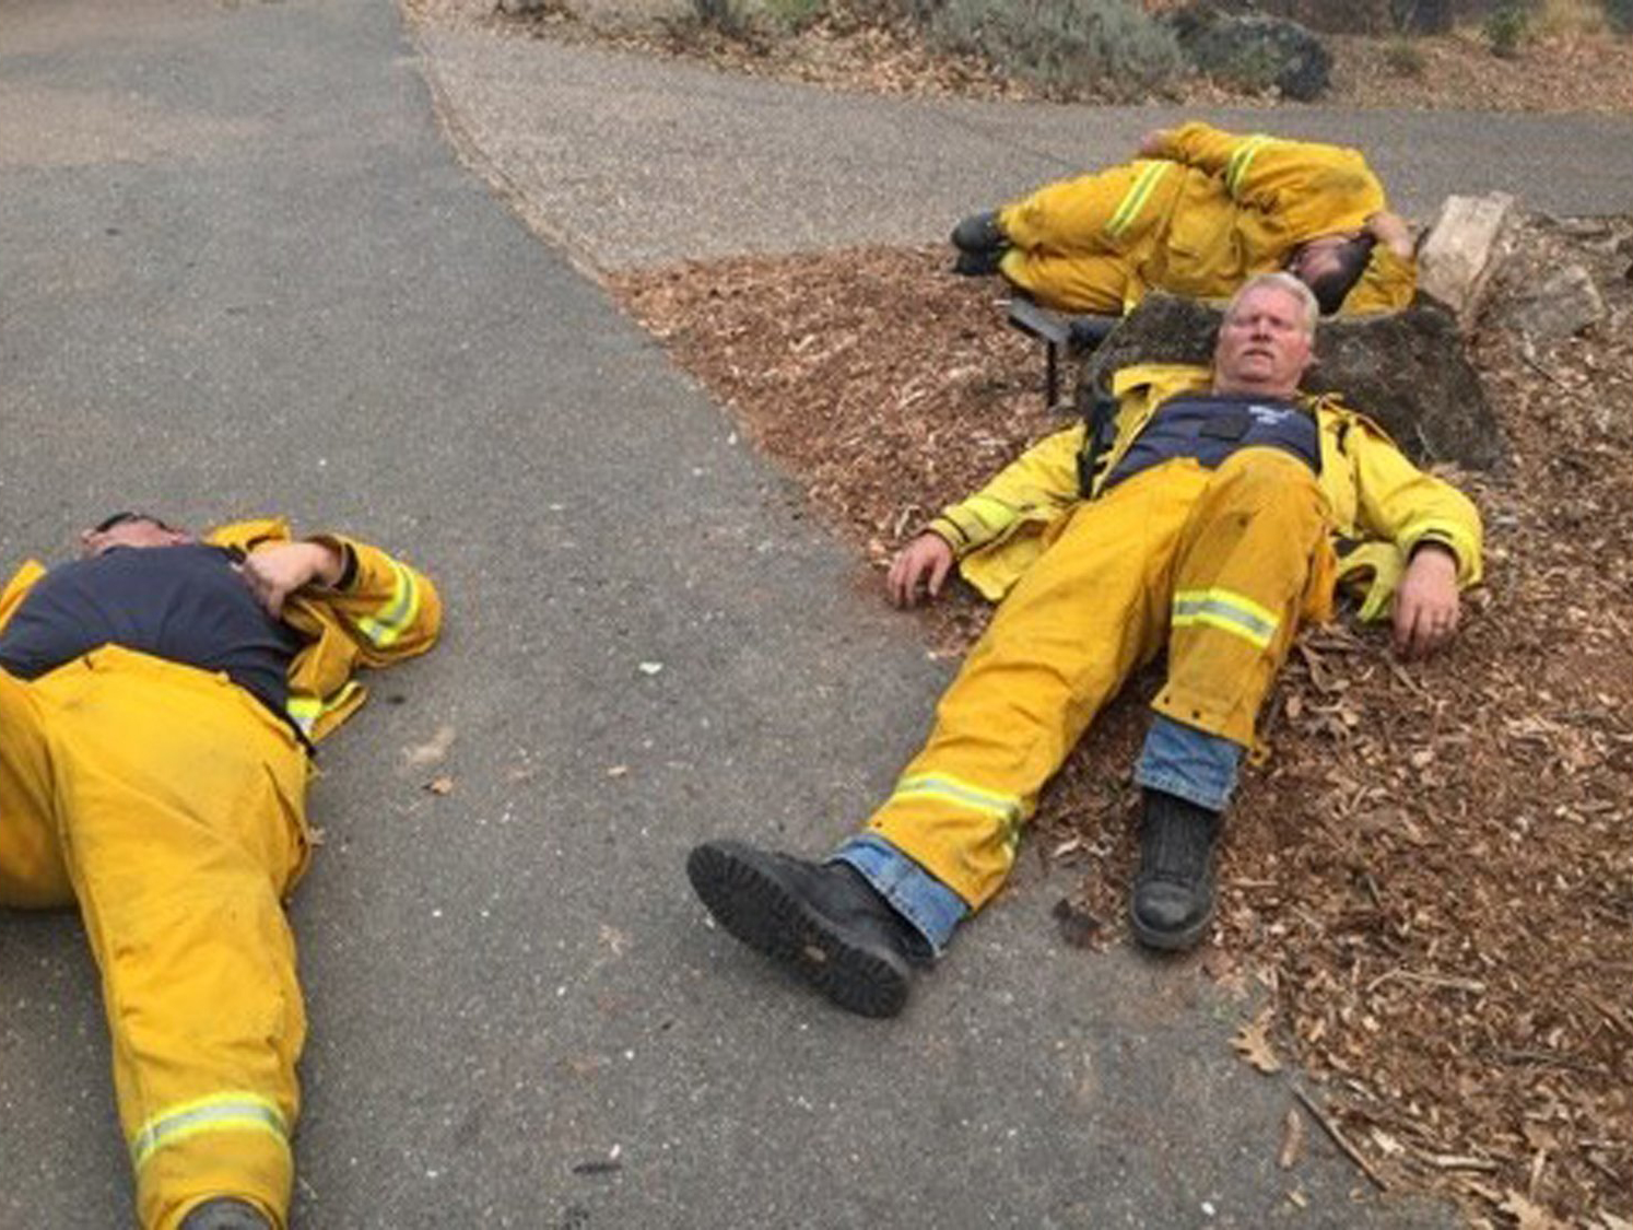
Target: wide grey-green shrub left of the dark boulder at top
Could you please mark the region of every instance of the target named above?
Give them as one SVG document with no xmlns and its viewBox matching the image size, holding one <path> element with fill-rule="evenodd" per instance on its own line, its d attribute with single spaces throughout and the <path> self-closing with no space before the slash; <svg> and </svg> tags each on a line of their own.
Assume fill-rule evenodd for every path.
<svg viewBox="0 0 1633 1230">
<path fill-rule="evenodd" d="M 1133 98 L 1184 70 L 1174 33 L 1125 0 L 946 0 L 929 33 L 1050 93 Z"/>
</svg>

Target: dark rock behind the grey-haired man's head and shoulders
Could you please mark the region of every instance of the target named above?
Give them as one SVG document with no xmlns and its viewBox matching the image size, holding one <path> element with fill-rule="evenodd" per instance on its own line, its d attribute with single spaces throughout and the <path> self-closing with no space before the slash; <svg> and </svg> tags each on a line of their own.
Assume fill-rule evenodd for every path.
<svg viewBox="0 0 1633 1230">
<path fill-rule="evenodd" d="M 1213 356 L 1220 310 L 1190 299 L 1151 294 L 1083 364 L 1078 405 L 1133 363 L 1199 363 Z M 1344 403 L 1377 420 L 1419 464 L 1453 461 L 1491 469 L 1502 461 L 1502 435 L 1463 354 L 1457 320 L 1419 299 L 1404 312 L 1323 320 L 1310 392 L 1341 392 Z"/>
</svg>

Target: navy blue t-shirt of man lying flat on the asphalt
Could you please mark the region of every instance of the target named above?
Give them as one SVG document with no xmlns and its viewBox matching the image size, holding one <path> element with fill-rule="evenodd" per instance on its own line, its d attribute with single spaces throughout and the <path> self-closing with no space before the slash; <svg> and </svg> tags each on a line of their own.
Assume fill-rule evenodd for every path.
<svg viewBox="0 0 1633 1230">
<path fill-rule="evenodd" d="M 113 547 L 60 564 L 0 632 L 0 666 L 34 680 L 98 645 L 225 671 L 274 714 L 289 699 L 300 635 L 266 614 L 225 547 Z"/>
</svg>

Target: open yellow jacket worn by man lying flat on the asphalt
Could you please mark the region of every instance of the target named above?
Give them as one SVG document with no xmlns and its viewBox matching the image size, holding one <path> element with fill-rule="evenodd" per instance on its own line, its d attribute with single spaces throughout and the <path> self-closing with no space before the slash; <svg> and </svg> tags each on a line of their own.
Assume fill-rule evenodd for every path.
<svg viewBox="0 0 1633 1230">
<path fill-rule="evenodd" d="M 253 554 L 258 547 L 289 542 L 284 518 L 235 521 L 212 529 L 206 542 Z M 367 697 L 353 678 L 359 666 L 385 666 L 425 653 L 436 644 L 443 603 L 421 573 L 379 547 L 335 534 L 318 534 L 351 562 L 343 590 L 309 586 L 289 596 L 283 619 L 305 639 L 289 666 L 289 717 L 314 743 L 335 730 Z M 0 590 L 0 627 L 44 577 L 38 560 L 28 560 Z"/>
</svg>

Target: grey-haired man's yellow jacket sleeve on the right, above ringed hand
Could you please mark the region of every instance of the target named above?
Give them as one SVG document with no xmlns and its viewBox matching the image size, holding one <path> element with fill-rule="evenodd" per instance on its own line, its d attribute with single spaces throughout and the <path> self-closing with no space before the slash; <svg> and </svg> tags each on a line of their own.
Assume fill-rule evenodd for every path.
<svg viewBox="0 0 1633 1230">
<path fill-rule="evenodd" d="M 1419 542 L 1442 542 L 1457 555 L 1458 585 L 1475 585 L 1483 575 L 1483 529 L 1473 500 L 1413 466 L 1364 420 L 1357 420 L 1357 426 L 1350 431 L 1349 451 L 1360 529 L 1393 542 L 1403 562 Z"/>
</svg>

